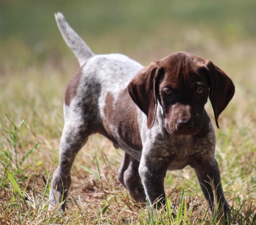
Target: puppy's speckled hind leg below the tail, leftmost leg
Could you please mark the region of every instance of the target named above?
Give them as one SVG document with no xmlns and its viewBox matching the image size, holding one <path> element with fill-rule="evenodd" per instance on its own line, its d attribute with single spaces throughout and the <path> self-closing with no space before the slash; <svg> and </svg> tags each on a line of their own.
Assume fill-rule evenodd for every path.
<svg viewBox="0 0 256 225">
<path fill-rule="evenodd" d="M 61 211 L 65 210 L 65 200 L 71 185 L 70 170 L 77 153 L 87 142 L 88 136 L 86 123 L 81 116 L 72 115 L 70 118 L 65 118 L 59 148 L 59 165 L 53 174 L 48 210 L 53 209 L 58 203 L 62 203 Z"/>
</svg>

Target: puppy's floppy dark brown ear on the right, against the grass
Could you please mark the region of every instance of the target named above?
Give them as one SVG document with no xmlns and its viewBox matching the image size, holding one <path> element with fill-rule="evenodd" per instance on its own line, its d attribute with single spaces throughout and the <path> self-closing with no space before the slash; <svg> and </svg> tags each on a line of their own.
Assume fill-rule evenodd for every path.
<svg viewBox="0 0 256 225">
<path fill-rule="evenodd" d="M 219 128 L 218 117 L 232 99 L 235 93 L 235 86 L 232 80 L 211 61 L 207 62 L 206 67 L 208 68 L 210 82 L 209 99 L 213 107 L 216 126 Z"/>
</svg>

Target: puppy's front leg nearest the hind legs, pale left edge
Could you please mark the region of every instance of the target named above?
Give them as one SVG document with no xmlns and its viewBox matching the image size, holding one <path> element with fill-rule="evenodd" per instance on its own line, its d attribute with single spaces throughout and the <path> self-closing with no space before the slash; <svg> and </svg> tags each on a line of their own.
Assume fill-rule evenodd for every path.
<svg viewBox="0 0 256 225">
<path fill-rule="evenodd" d="M 165 162 L 152 158 L 151 154 L 142 154 L 139 174 L 146 196 L 154 208 L 165 205 L 164 178 L 167 172 L 167 166 L 165 165 Z"/>
</svg>

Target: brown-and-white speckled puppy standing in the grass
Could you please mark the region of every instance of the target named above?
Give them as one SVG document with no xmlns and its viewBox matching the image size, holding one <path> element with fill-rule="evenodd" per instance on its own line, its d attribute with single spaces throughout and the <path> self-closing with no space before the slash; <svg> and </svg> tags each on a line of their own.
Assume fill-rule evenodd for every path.
<svg viewBox="0 0 256 225">
<path fill-rule="evenodd" d="M 218 117 L 235 91 L 231 79 L 211 61 L 188 52 L 144 68 L 121 54 L 95 55 L 61 13 L 56 21 L 81 67 L 65 90 L 65 124 L 49 209 L 63 201 L 65 210 L 73 161 L 88 136 L 99 133 L 125 151 L 118 180 L 137 202 L 148 198 L 164 205 L 167 171 L 190 165 L 211 210 L 216 191 L 226 214 L 214 128 L 204 105 L 209 96 L 219 127 Z"/>
</svg>

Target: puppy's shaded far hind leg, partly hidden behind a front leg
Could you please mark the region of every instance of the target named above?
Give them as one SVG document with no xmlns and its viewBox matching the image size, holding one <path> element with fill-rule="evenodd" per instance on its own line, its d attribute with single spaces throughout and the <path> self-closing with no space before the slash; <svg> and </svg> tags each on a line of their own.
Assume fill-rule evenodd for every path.
<svg viewBox="0 0 256 225">
<path fill-rule="evenodd" d="M 136 159 L 125 153 L 117 177 L 136 202 L 144 203 L 146 195 L 138 172 L 139 164 Z"/>
</svg>

